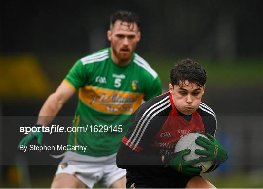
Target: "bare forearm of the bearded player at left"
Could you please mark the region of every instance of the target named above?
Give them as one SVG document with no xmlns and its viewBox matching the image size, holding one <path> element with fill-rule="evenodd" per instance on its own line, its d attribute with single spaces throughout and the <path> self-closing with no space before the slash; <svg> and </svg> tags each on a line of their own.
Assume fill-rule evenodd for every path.
<svg viewBox="0 0 263 189">
<path fill-rule="evenodd" d="M 42 106 L 38 115 L 37 124 L 48 126 L 52 120 L 54 120 L 63 104 L 66 103 L 74 93 L 75 90 L 71 86 L 62 82 L 56 89 L 56 92 L 52 93 Z"/>
</svg>

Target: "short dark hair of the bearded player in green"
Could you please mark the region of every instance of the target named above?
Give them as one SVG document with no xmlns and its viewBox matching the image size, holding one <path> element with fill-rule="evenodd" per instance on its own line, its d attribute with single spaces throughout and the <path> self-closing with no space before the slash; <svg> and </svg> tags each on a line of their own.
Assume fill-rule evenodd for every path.
<svg viewBox="0 0 263 189">
<path fill-rule="evenodd" d="M 138 30 L 140 30 L 141 22 L 139 20 L 138 15 L 133 12 L 121 10 L 113 13 L 110 17 L 110 29 L 117 20 L 128 23 L 136 23 L 138 26 Z"/>
</svg>

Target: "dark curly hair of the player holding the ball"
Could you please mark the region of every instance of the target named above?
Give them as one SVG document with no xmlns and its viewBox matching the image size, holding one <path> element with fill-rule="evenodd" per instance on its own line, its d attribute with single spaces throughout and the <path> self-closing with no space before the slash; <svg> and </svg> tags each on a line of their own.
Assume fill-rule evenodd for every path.
<svg viewBox="0 0 263 189">
<path fill-rule="evenodd" d="M 183 86 L 186 80 L 197 86 L 204 86 L 207 80 L 207 73 L 197 62 L 184 59 L 175 64 L 170 71 L 170 80 L 172 86 Z"/>
</svg>

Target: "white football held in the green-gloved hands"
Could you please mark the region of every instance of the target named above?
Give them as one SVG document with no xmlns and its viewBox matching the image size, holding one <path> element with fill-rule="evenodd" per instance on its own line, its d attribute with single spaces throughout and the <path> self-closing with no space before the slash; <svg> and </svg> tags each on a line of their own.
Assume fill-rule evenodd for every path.
<svg viewBox="0 0 263 189">
<path fill-rule="evenodd" d="M 189 133 L 189 134 L 183 136 L 182 138 L 180 138 L 180 140 L 178 140 L 178 142 L 175 146 L 174 152 L 179 152 L 181 150 L 190 149 L 191 152 L 187 155 L 184 155 L 184 159 L 186 161 L 197 159 L 201 156 L 206 157 L 206 155 L 199 155 L 199 154 L 194 153 L 194 151 L 196 149 L 206 150 L 204 147 L 195 143 L 195 139 L 199 136 L 205 137 L 209 140 L 209 138 L 207 136 L 202 135 L 200 133 Z M 201 172 L 206 172 L 212 166 L 212 164 L 213 164 L 212 161 L 206 161 L 206 162 L 200 162 L 200 163 L 194 164 L 192 166 L 193 167 L 200 167 L 202 169 Z"/>
</svg>

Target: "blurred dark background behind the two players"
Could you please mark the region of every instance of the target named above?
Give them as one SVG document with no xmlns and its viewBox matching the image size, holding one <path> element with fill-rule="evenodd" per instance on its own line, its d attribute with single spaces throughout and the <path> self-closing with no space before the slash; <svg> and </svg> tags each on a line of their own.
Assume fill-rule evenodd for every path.
<svg viewBox="0 0 263 189">
<path fill-rule="evenodd" d="M 16 165 L 24 158 L 16 151 L 22 135 L 7 120 L 37 116 L 76 60 L 108 47 L 109 16 L 119 9 L 140 16 L 136 52 L 159 74 L 163 92 L 179 60 L 206 69 L 203 102 L 217 114 L 217 136 L 229 159 L 204 177 L 218 188 L 263 188 L 262 0 L 3 1 L 0 187 L 50 187 L 56 166 Z M 59 116 L 73 116 L 76 102 L 77 94 Z"/>
</svg>

